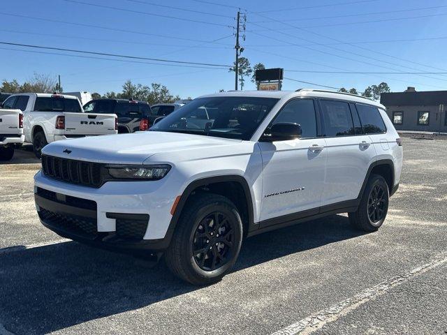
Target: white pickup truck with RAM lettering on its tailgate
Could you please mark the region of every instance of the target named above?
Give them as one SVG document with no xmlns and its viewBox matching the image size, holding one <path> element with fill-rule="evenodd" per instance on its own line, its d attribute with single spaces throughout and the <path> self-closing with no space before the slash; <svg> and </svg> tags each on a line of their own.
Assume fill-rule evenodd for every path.
<svg viewBox="0 0 447 335">
<path fill-rule="evenodd" d="M 75 96 L 13 94 L 2 107 L 22 110 L 24 140 L 33 144 L 37 158 L 45 145 L 57 140 L 118 132 L 116 114 L 84 113 Z"/>
</svg>

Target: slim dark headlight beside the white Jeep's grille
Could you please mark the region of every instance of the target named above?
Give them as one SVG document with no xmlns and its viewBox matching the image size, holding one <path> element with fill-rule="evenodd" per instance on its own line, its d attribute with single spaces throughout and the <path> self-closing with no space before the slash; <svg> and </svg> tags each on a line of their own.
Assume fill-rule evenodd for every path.
<svg viewBox="0 0 447 335">
<path fill-rule="evenodd" d="M 108 165 L 106 168 L 114 179 L 159 180 L 169 172 L 170 165 Z"/>
</svg>

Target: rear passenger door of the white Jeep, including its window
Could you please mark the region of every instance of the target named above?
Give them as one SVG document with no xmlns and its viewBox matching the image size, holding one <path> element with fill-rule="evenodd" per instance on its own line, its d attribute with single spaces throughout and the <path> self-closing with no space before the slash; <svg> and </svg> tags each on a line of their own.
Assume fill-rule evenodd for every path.
<svg viewBox="0 0 447 335">
<path fill-rule="evenodd" d="M 328 165 L 321 205 L 358 197 L 376 151 L 362 131 L 355 105 L 346 101 L 320 100 Z"/>
</svg>

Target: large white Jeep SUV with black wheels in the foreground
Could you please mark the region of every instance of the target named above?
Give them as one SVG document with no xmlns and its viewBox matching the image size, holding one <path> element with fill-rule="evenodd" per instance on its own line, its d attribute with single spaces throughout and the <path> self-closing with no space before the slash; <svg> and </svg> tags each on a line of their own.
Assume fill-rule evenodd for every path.
<svg viewBox="0 0 447 335">
<path fill-rule="evenodd" d="M 163 254 L 174 274 L 203 285 L 228 273 L 254 234 L 345 212 L 379 229 L 402 146 L 367 98 L 233 91 L 196 98 L 149 131 L 50 144 L 42 166 L 35 198 L 47 228 Z"/>
</svg>

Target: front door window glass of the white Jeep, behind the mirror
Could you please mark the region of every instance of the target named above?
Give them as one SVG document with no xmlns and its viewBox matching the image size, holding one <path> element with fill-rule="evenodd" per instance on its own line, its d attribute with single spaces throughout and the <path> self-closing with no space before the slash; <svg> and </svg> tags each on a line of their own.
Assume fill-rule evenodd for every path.
<svg viewBox="0 0 447 335">
<path fill-rule="evenodd" d="M 316 137 L 316 115 L 314 101 L 311 99 L 297 99 L 288 103 L 279 112 L 272 124 L 293 122 L 302 129 L 302 138 Z"/>
</svg>

